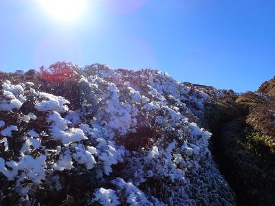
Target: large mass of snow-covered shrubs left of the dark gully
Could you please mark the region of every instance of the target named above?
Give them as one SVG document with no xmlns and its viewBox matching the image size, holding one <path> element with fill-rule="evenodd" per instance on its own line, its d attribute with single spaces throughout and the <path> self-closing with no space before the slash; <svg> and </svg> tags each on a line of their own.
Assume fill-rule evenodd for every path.
<svg viewBox="0 0 275 206">
<path fill-rule="evenodd" d="M 21 105 L 0 111 L 0 175 L 21 198 L 43 204 L 234 205 L 208 150 L 211 134 L 193 123 L 206 93 L 150 69 L 96 64 L 74 71 L 74 80 L 65 75 L 65 82 L 74 82 L 72 91 L 56 83 L 59 78 L 41 80 L 40 89 L 2 82 L 0 101 Z"/>
</svg>

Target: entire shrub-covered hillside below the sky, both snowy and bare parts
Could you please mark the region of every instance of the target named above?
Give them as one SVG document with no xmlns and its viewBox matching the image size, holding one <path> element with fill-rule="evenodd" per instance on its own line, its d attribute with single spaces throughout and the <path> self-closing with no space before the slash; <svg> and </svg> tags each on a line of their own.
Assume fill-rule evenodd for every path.
<svg viewBox="0 0 275 206">
<path fill-rule="evenodd" d="M 0 89 L 1 205 L 274 203 L 272 89 L 67 62 Z"/>
</svg>

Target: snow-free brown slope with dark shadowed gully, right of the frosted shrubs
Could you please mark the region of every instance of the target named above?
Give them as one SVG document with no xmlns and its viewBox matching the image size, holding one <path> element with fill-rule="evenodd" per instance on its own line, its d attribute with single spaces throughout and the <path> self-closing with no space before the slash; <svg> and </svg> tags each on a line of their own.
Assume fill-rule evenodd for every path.
<svg viewBox="0 0 275 206">
<path fill-rule="evenodd" d="M 213 135 L 212 152 L 238 205 L 274 205 L 275 100 L 260 93 L 212 98 L 200 126 Z"/>
</svg>

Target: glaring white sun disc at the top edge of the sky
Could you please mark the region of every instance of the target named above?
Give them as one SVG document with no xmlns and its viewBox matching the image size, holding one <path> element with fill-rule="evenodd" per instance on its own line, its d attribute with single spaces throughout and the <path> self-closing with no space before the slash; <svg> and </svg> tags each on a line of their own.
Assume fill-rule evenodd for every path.
<svg viewBox="0 0 275 206">
<path fill-rule="evenodd" d="M 76 21 L 85 10 L 85 0 L 41 0 L 41 5 L 58 21 Z"/>
</svg>

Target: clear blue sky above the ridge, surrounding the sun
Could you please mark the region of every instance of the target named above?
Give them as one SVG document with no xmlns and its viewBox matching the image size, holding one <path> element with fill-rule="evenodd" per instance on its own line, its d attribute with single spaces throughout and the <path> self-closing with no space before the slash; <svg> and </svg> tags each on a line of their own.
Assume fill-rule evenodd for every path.
<svg viewBox="0 0 275 206">
<path fill-rule="evenodd" d="M 39 1 L 0 1 L 1 71 L 100 62 L 238 92 L 275 76 L 275 1 L 88 0 L 73 22 Z"/>
</svg>

